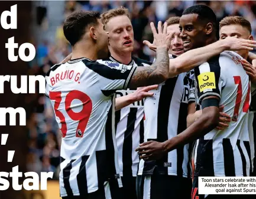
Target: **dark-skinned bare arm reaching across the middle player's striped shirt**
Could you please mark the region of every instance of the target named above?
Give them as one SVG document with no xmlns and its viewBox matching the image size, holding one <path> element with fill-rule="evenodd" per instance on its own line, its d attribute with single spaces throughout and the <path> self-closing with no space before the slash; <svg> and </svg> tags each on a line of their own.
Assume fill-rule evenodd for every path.
<svg viewBox="0 0 256 199">
<path fill-rule="evenodd" d="M 216 98 L 215 96 L 209 96 L 208 98 Z M 203 100 L 205 100 L 203 99 Z M 145 161 L 151 161 L 154 159 L 160 159 L 167 152 L 173 149 L 179 148 L 189 142 L 206 135 L 206 133 L 216 128 L 219 123 L 219 107 L 210 106 L 205 107 L 202 111 L 202 115 L 185 131 L 179 133 L 179 135 L 168 139 L 165 142 L 149 141 L 144 142 L 135 151 L 138 151 L 140 158 Z"/>
</svg>

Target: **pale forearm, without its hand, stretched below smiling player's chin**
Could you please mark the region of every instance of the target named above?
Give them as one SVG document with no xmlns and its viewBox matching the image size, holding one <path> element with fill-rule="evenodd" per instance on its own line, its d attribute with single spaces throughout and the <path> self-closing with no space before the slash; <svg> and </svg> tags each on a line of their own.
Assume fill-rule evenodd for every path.
<svg viewBox="0 0 256 199">
<path fill-rule="evenodd" d="M 205 47 L 187 51 L 179 57 L 170 60 L 169 76 L 175 77 L 177 74 L 190 71 L 196 66 L 205 63 L 211 57 L 222 53 L 227 48 L 226 44 L 219 40 Z"/>
</svg>

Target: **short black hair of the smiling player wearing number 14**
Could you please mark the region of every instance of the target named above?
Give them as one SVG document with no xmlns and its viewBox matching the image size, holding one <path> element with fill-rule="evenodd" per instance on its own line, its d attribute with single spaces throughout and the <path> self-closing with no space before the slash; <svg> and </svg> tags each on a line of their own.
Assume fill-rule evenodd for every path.
<svg viewBox="0 0 256 199">
<path fill-rule="evenodd" d="M 198 18 L 203 22 L 211 22 L 213 25 L 213 30 L 217 31 L 217 18 L 213 10 L 206 5 L 193 5 L 185 9 L 182 15 L 197 14 Z"/>
</svg>

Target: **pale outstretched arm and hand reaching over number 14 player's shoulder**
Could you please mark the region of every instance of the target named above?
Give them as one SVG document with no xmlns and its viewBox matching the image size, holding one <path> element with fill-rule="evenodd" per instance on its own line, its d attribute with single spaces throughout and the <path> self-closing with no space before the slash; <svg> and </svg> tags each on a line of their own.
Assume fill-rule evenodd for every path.
<svg viewBox="0 0 256 199">
<path fill-rule="evenodd" d="M 225 50 L 253 50 L 256 41 L 244 40 L 242 38 L 227 37 L 205 47 L 196 48 L 181 56 L 170 60 L 169 76 L 175 77 L 177 74 L 192 70 L 194 67 L 208 61 L 211 57 L 222 53 Z"/>
</svg>

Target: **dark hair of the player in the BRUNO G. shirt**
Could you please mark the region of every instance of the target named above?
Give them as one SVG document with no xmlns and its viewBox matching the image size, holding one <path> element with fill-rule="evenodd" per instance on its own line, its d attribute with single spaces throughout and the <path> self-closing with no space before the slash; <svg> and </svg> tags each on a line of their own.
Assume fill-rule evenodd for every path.
<svg viewBox="0 0 256 199">
<path fill-rule="evenodd" d="M 64 21 L 63 32 L 64 35 L 73 46 L 77 43 L 85 34 L 86 28 L 89 25 L 98 25 L 98 19 L 100 19 L 99 12 L 92 11 L 77 11 L 73 12 Z"/>
</svg>

